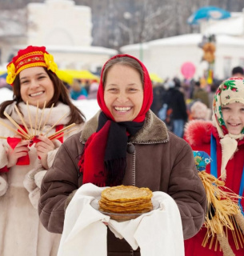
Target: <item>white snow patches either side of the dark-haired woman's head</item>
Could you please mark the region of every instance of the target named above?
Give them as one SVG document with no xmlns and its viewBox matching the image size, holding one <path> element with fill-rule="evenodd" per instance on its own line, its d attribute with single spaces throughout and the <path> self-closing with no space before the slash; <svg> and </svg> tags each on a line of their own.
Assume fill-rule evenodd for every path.
<svg viewBox="0 0 244 256">
<path fill-rule="evenodd" d="M 7 88 L 0 89 L 0 103 L 11 100 L 13 98 L 13 92 Z M 82 110 L 82 113 L 86 116 L 86 121 L 89 120 L 100 109 L 98 102 L 95 99 L 82 99 L 78 101 L 72 101 L 78 109 Z"/>
</svg>

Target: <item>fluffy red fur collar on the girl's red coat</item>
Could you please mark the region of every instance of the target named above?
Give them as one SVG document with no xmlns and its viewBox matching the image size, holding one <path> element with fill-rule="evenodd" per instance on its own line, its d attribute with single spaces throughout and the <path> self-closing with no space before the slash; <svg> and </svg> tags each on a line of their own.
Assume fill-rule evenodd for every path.
<svg viewBox="0 0 244 256">
<path fill-rule="evenodd" d="M 192 120 L 186 123 L 185 138 L 192 146 L 210 143 L 213 123 L 203 120 Z"/>
</svg>

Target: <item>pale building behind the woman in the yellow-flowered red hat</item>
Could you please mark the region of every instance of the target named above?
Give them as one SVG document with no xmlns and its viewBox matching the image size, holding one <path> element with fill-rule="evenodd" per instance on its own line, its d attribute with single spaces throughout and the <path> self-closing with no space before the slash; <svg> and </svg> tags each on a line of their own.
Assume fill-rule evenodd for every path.
<svg viewBox="0 0 244 256">
<path fill-rule="evenodd" d="M 46 46 L 59 69 L 95 71 L 117 54 L 116 50 L 91 46 L 90 7 L 76 6 L 72 0 L 29 3 L 14 12 L 1 10 L 0 22 L 2 64 L 29 45 Z"/>
</svg>

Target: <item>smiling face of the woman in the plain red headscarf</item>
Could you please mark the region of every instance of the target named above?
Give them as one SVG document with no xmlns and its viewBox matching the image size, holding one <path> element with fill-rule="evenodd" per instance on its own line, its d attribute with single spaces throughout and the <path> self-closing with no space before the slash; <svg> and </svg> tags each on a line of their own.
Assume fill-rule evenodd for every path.
<svg viewBox="0 0 244 256">
<path fill-rule="evenodd" d="M 116 122 L 132 121 L 142 108 L 143 86 L 137 70 L 115 64 L 107 71 L 104 101 Z"/>
</svg>

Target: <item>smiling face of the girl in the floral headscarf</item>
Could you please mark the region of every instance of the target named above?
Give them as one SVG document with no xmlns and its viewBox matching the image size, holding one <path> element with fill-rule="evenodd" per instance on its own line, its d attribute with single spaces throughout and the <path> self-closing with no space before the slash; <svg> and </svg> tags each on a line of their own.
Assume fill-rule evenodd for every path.
<svg viewBox="0 0 244 256">
<path fill-rule="evenodd" d="M 229 133 L 240 134 L 244 127 L 244 104 L 235 102 L 222 106 L 222 115 Z"/>
</svg>

